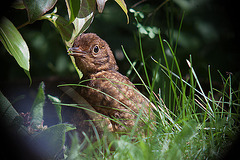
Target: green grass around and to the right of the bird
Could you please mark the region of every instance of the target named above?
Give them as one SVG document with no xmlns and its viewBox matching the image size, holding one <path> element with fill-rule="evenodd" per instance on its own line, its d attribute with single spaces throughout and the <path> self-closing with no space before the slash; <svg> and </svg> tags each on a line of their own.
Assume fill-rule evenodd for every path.
<svg viewBox="0 0 240 160">
<path fill-rule="evenodd" d="M 146 127 L 145 135 L 139 134 L 135 130 L 136 127 L 133 127 L 130 134 L 123 135 L 106 131 L 100 138 L 93 125 L 97 141 L 92 142 L 85 133 L 85 140 L 82 142 L 78 140 L 77 135 L 72 135 L 73 143 L 65 152 L 66 158 L 215 159 L 224 155 L 239 130 L 239 91 L 234 91 L 232 88 L 232 75 L 229 74 L 225 78 L 221 73 L 219 74 L 223 82 L 223 89 L 219 91 L 213 88 L 211 69 L 208 66 L 206 74 L 209 77 L 210 90 L 204 92 L 193 68 L 194 62 L 191 56 L 186 62 L 189 66 L 189 79 L 184 80 L 169 43 L 162 40 L 160 34 L 159 40 L 166 66 L 152 59 L 157 64 L 155 69 L 168 77 L 169 86 L 165 85 L 164 88 L 154 87 L 155 78 L 159 77 L 148 76 L 141 38 L 140 53 L 147 83 L 143 81 L 123 48 L 127 60 L 147 90 L 148 99 L 155 106 L 154 127 Z M 171 67 L 166 58 L 164 43 L 169 47 L 173 56 Z M 176 68 L 176 73 L 171 70 L 172 67 Z M 156 93 L 154 90 L 159 92 Z M 166 90 L 169 90 L 167 95 L 163 92 Z M 216 94 L 219 98 L 215 98 Z M 168 104 L 164 102 L 166 97 L 171 100 Z"/>
</svg>

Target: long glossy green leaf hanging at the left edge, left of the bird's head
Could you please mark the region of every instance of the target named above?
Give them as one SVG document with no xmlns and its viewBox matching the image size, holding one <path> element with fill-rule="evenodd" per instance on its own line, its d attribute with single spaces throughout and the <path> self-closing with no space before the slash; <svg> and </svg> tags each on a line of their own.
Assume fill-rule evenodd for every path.
<svg viewBox="0 0 240 160">
<path fill-rule="evenodd" d="M 3 17 L 0 22 L 0 40 L 5 49 L 16 59 L 19 66 L 29 71 L 28 46 L 12 22 L 6 17 Z"/>
</svg>

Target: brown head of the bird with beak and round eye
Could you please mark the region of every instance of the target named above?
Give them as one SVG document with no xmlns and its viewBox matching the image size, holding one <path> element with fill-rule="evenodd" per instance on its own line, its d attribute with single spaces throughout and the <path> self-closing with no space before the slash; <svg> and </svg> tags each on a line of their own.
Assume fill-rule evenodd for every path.
<svg viewBox="0 0 240 160">
<path fill-rule="evenodd" d="M 84 76 L 104 70 L 118 70 L 107 42 L 94 33 L 78 36 L 68 52 L 68 55 L 74 56 L 76 65 Z"/>
</svg>

